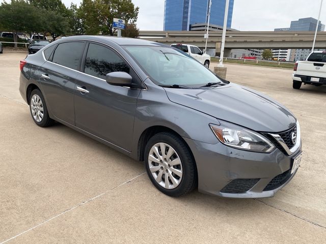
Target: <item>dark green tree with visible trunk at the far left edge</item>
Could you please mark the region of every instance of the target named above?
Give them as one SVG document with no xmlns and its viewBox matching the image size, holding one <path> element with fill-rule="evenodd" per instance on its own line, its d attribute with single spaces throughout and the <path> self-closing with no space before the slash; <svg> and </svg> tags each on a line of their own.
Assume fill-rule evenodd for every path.
<svg viewBox="0 0 326 244">
<path fill-rule="evenodd" d="M 10 4 L 4 2 L 0 7 L 0 25 L 3 31 L 14 34 L 17 47 L 17 33 L 32 32 L 35 27 L 42 25 L 39 15 L 35 6 L 23 0 L 12 0 Z"/>
</svg>

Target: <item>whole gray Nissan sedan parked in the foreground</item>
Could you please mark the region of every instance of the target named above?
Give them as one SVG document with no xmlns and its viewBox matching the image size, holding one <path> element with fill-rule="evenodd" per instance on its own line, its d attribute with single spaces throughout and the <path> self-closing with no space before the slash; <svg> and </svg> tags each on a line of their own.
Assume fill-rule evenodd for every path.
<svg viewBox="0 0 326 244">
<path fill-rule="evenodd" d="M 169 196 L 271 197 L 301 161 L 283 105 L 140 39 L 75 36 L 20 61 L 19 90 L 38 126 L 55 121 L 144 161 Z"/>
</svg>

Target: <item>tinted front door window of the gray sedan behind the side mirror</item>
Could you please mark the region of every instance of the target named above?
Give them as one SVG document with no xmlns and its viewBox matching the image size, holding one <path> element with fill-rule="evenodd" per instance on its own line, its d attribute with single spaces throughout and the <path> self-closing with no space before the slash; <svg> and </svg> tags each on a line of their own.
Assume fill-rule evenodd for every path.
<svg viewBox="0 0 326 244">
<path fill-rule="evenodd" d="M 129 67 L 124 60 L 110 48 L 90 43 L 84 73 L 105 80 L 107 73 L 117 71 L 129 73 Z"/>
</svg>

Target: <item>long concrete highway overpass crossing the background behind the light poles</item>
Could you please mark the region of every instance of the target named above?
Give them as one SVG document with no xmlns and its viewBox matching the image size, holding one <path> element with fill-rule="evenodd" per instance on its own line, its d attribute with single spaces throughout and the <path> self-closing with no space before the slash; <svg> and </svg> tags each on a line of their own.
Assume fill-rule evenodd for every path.
<svg viewBox="0 0 326 244">
<path fill-rule="evenodd" d="M 140 31 L 140 38 L 167 45 L 184 43 L 205 48 L 202 31 Z M 239 32 L 228 31 L 225 48 L 227 49 L 311 49 L 314 32 Z M 207 48 L 215 48 L 222 42 L 221 32 L 209 32 Z M 326 32 L 318 32 L 315 48 L 326 48 Z"/>
</svg>

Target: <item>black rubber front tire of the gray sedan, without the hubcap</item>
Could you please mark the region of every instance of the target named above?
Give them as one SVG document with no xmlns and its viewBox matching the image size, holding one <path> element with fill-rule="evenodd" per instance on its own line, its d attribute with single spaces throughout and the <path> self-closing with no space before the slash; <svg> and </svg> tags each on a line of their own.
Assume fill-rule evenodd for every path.
<svg viewBox="0 0 326 244">
<path fill-rule="evenodd" d="M 181 181 L 179 185 L 173 189 L 166 189 L 165 187 L 160 186 L 149 169 L 148 157 L 149 157 L 150 149 L 152 148 L 153 145 L 160 142 L 166 143 L 171 147 L 173 147 L 173 149 L 179 156 L 182 165 Z M 174 155 L 172 155 L 171 157 L 173 156 Z M 161 132 L 154 135 L 149 139 L 149 141 L 146 144 L 144 159 L 145 159 L 146 171 L 150 180 L 152 181 L 153 185 L 162 193 L 171 197 L 178 197 L 187 194 L 196 188 L 197 186 L 196 163 L 190 149 L 187 147 L 185 142 L 179 136 L 169 132 Z"/>
</svg>

